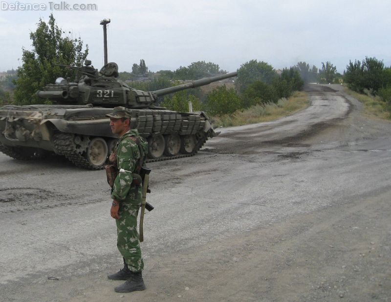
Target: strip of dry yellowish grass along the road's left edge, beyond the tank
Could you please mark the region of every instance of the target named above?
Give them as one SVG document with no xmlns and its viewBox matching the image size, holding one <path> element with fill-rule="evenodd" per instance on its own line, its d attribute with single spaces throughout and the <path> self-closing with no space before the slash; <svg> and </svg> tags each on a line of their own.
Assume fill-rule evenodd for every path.
<svg viewBox="0 0 391 302">
<path fill-rule="evenodd" d="M 247 109 L 239 109 L 233 114 L 212 117 L 215 127 L 231 127 L 260 122 L 268 122 L 294 113 L 309 106 L 309 98 L 304 91 L 295 91 L 288 99 L 282 98 L 275 103 L 255 105 Z"/>
</svg>

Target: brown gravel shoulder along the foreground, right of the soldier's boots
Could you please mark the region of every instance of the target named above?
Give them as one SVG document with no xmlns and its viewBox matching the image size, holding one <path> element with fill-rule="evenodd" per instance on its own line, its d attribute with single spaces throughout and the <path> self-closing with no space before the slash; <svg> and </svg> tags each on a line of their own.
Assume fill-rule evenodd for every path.
<svg viewBox="0 0 391 302">
<path fill-rule="evenodd" d="M 149 262 L 142 301 L 390 301 L 390 192 Z M 71 301 L 117 301 L 103 281 Z M 125 299 L 128 296 L 125 296 Z"/>
</svg>

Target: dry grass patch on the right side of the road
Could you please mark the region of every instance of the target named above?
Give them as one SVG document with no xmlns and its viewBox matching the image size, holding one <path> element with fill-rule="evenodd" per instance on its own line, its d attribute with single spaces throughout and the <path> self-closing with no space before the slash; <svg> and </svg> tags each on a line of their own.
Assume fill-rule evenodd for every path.
<svg viewBox="0 0 391 302">
<path fill-rule="evenodd" d="M 345 92 L 364 105 L 364 110 L 367 114 L 373 115 L 382 119 L 391 120 L 390 107 L 379 96 L 361 94 L 345 87 Z"/>
</svg>

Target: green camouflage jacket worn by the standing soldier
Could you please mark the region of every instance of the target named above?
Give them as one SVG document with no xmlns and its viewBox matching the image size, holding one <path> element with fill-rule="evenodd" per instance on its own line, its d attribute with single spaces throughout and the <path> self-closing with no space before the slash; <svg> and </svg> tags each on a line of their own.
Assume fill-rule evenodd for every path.
<svg viewBox="0 0 391 302">
<path fill-rule="evenodd" d="M 117 167 L 118 170 L 124 169 L 125 173 L 118 173 L 111 189 L 111 198 L 118 201 L 128 201 L 131 203 L 140 203 L 142 199 L 142 188 L 132 185 L 133 173 L 136 168 L 136 162 L 140 159 L 140 150 L 137 143 L 130 137 L 140 137 L 137 129 L 131 129 L 122 135 L 116 145 Z M 148 143 L 140 137 L 141 148 L 144 153 L 148 152 Z"/>
</svg>

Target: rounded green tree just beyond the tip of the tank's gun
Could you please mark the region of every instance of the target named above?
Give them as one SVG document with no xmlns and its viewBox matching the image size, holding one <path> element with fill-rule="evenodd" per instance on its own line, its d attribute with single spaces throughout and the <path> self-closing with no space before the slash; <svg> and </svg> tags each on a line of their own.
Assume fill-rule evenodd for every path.
<svg viewBox="0 0 391 302">
<path fill-rule="evenodd" d="M 262 81 L 271 84 L 277 77 L 278 75 L 272 65 L 263 61 L 251 60 L 240 65 L 235 85 L 238 91 L 242 92 L 251 83 Z"/>
</svg>

